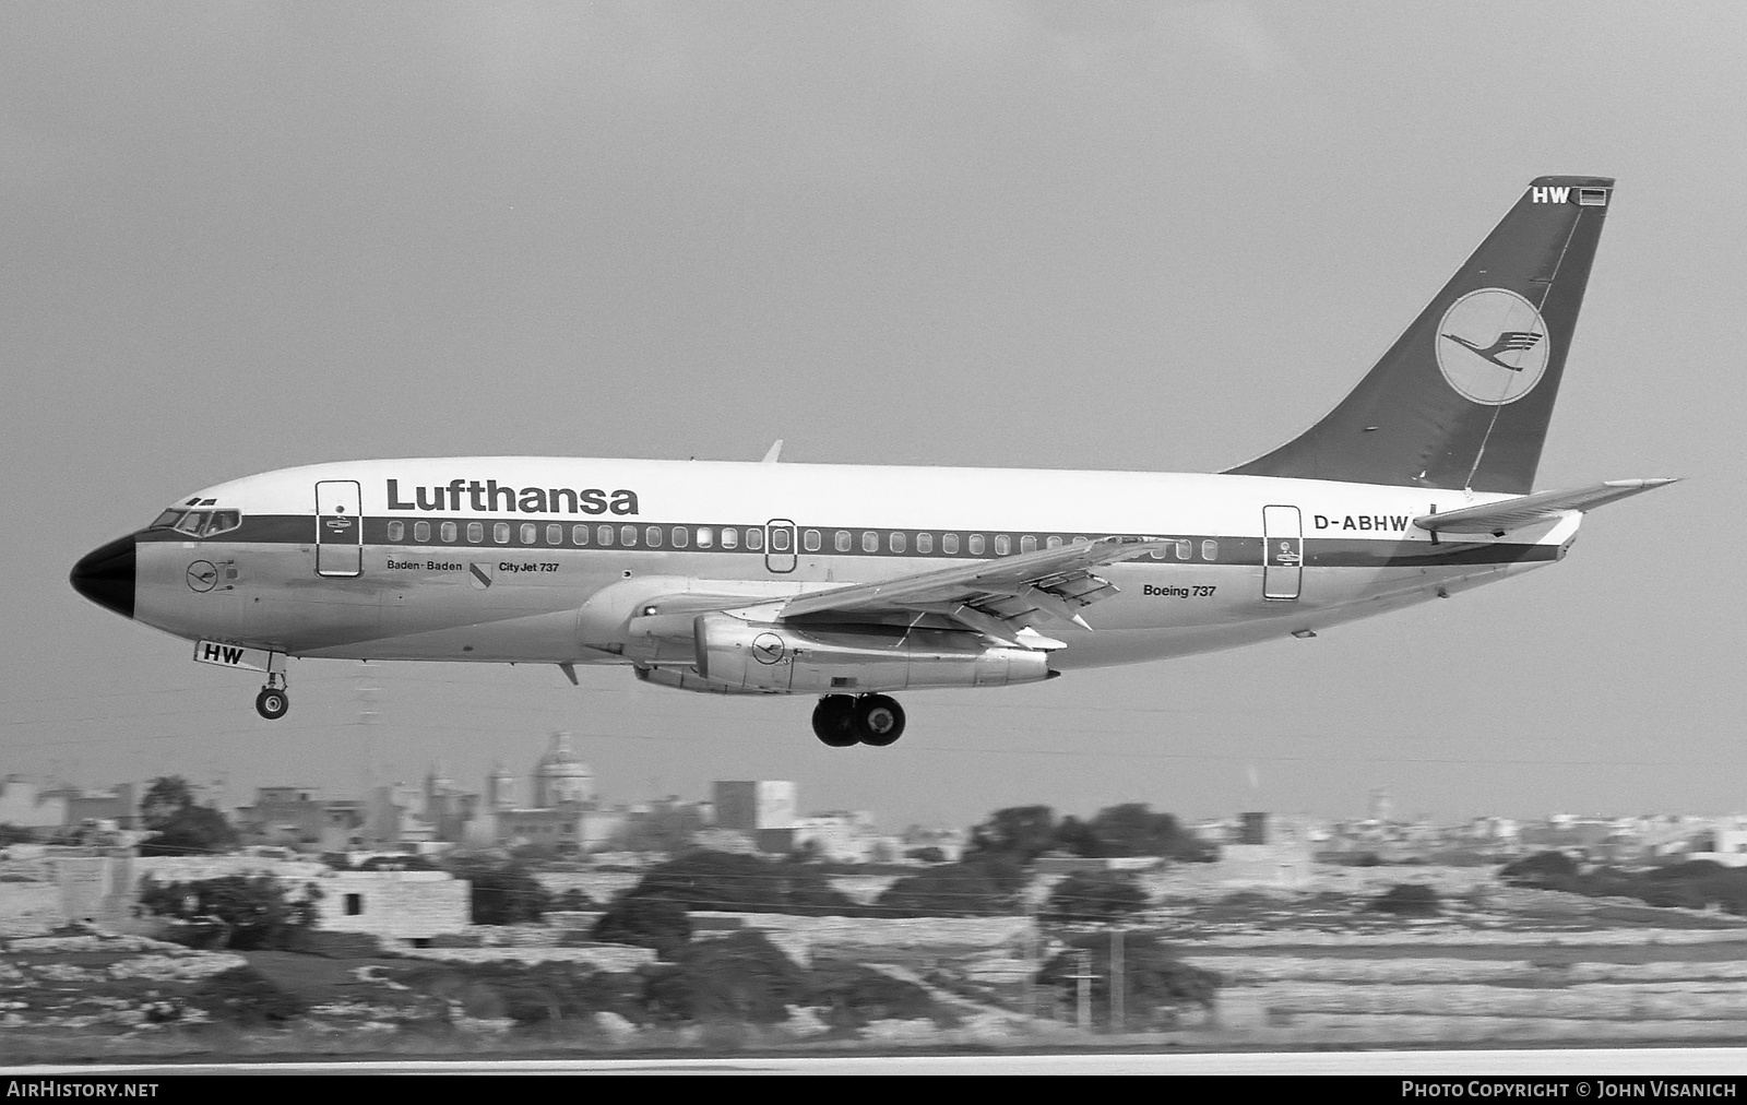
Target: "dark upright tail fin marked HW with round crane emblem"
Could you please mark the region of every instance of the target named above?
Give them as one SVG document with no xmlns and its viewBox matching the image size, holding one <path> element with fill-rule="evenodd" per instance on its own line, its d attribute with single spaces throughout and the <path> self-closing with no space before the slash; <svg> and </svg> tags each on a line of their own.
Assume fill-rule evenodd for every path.
<svg viewBox="0 0 1747 1105">
<path fill-rule="evenodd" d="M 1340 406 L 1230 472 L 1527 493 L 1612 191 L 1536 178 Z"/>
</svg>

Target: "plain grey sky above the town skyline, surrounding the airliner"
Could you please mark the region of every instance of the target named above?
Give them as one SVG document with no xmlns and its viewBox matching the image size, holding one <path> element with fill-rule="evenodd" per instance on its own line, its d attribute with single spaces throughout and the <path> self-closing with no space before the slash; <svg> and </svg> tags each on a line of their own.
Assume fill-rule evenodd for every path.
<svg viewBox="0 0 1747 1105">
<path fill-rule="evenodd" d="M 1747 811 L 1747 7 L 7 3 L 0 771 L 809 810 Z M 1688 483 L 1558 566 L 1324 633 L 907 698 L 246 675 L 80 600 L 190 490 L 348 456 L 1212 470 L 1333 406 L 1522 185 L 1619 178 L 1539 484 Z"/>
</svg>

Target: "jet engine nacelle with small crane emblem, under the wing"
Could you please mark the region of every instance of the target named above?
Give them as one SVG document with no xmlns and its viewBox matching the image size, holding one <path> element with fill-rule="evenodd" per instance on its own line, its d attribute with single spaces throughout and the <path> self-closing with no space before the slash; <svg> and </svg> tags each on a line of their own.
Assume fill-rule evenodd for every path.
<svg viewBox="0 0 1747 1105">
<path fill-rule="evenodd" d="M 1052 678 L 1046 652 L 991 647 L 975 633 L 858 626 L 812 629 L 702 614 L 697 673 L 732 691 L 865 694 L 910 687 L 1003 687 Z"/>
</svg>

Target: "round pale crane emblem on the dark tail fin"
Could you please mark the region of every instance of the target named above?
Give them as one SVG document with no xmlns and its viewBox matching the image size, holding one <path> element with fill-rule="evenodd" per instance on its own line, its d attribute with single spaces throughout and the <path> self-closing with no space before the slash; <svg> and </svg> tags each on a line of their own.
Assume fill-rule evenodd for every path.
<svg viewBox="0 0 1747 1105">
<path fill-rule="evenodd" d="M 1504 288 L 1462 295 L 1438 325 L 1438 369 L 1464 399 L 1497 407 L 1541 383 L 1551 353 L 1546 320 Z"/>
</svg>

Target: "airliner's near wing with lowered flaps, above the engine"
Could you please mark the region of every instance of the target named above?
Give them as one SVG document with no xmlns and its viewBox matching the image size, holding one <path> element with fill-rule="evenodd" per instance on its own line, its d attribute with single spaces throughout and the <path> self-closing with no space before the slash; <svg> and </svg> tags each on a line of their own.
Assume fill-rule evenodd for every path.
<svg viewBox="0 0 1747 1105">
<path fill-rule="evenodd" d="M 1116 593 L 1094 568 L 1158 552 L 1170 544 L 1104 537 L 877 584 L 811 591 L 788 600 L 781 617 L 830 621 L 832 615 L 940 614 L 1005 645 L 1059 649 L 1060 642 L 1027 631 L 1036 617 L 1090 629 L 1080 610 Z"/>
</svg>

